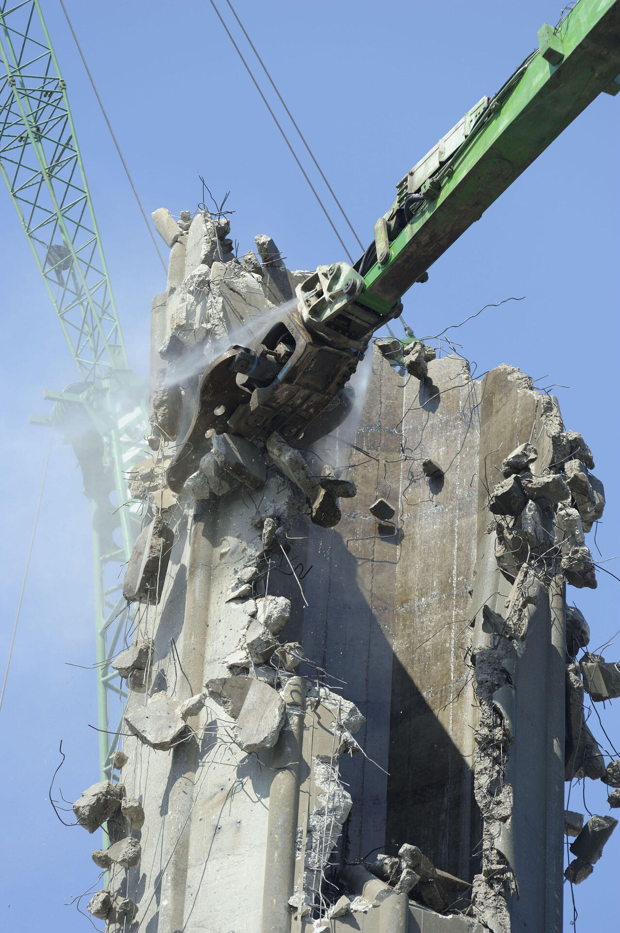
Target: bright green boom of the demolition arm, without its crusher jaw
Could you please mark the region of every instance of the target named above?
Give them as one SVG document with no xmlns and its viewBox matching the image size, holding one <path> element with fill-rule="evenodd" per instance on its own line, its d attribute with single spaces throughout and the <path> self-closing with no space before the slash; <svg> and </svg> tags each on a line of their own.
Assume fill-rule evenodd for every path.
<svg viewBox="0 0 620 933">
<path fill-rule="evenodd" d="M 358 301 L 390 313 L 601 91 L 616 92 L 620 0 L 580 0 L 552 33 L 561 60 L 550 63 L 545 49 L 536 49 L 495 94 L 462 146 L 430 179 L 422 207 L 393 240 L 389 261 L 366 272 Z M 532 198 L 532 208 L 535 203 Z"/>
</svg>

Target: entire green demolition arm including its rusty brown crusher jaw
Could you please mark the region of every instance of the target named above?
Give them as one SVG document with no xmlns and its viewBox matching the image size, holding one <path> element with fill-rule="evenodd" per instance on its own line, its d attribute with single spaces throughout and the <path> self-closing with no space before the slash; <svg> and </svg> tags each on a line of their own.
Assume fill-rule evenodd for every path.
<svg viewBox="0 0 620 933">
<path fill-rule="evenodd" d="M 296 310 L 249 347 L 231 347 L 204 373 L 198 411 L 168 472 L 182 489 L 204 453 L 205 431 L 305 446 L 372 335 L 402 310 L 401 297 L 601 92 L 620 91 L 620 2 L 580 0 L 493 97 L 483 97 L 397 186 L 373 242 L 352 266 L 319 266 L 297 285 Z M 544 198 L 538 199 L 543 222 Z M 404 362 L 409 332 L 391 362 Z M 409 348 L 409 352 L 413 348 Z M 421 349 L 421 348 L 420 348 Z M 310 426 L 314 420 L 314 425 Z"/>
</svg>

